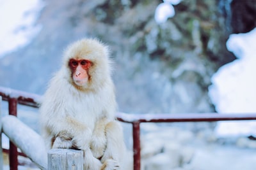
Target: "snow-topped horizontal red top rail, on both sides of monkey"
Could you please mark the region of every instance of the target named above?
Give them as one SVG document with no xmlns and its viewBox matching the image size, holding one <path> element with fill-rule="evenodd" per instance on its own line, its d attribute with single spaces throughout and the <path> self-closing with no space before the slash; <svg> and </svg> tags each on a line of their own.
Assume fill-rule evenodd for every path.
<svg viewBox="0 0 256 170">
<path fill-rule="evenodd" d="M 20 90 L 0 87 L 4 101 L 16 98 L 19 104 L 38 108 L 42 97 Z M 117 113 L 121 122 L 216 122 L 222 120 L 256 120 L 256 113 L 179 113 L 179 114 L 127 114 Z"/>
</svg>

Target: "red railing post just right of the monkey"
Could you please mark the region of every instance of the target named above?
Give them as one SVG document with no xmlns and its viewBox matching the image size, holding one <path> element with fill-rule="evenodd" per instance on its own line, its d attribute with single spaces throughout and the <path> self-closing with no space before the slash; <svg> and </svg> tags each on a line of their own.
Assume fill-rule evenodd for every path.
<svg viewBox="0 0 256 170">
<path fill-rule="evenodd" d="M 140 122 L 132 122 L 133 169 L 140 170 Z"/>
</svg>

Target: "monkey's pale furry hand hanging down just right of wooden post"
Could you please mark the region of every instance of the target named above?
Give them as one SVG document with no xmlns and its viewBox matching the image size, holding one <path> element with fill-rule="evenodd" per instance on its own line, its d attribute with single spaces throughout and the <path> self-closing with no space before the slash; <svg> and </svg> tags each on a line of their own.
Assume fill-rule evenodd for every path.
<svg viewBox="0 0 256 170">
<path fill-rule="evenodd" d="M 100 159 L 103 156 L 107 145 L 107 139 L 104 131 L 98 132 L 92 135 L 92 141 L 90 143 L 90 148 L 93 153 L 93 157 Z"/>
</svg>

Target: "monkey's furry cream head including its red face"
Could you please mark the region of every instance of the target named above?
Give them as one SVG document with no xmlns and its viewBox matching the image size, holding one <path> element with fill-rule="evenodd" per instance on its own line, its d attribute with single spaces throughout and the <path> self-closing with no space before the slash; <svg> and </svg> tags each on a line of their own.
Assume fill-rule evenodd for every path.
<svg viewBox="0 0 256 170">
<path fill-rule="evenodd" d="M 68 46 L 63 57 L 65 78 L 78 90 L 97 90 L 111 81 L 108 47 L 96 39 L 81 39 Z"/>
</svg>

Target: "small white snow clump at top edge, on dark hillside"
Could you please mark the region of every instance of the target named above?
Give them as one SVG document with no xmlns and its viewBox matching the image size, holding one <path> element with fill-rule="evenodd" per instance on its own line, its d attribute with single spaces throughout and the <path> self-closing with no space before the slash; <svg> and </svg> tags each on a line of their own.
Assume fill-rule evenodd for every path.
<svg viewBox="0 0 256 170">
<path fill-rule="evenodd" d="M 157 24 L 166 22 L 168 18 L 172 18 L 175 15 L 173 5 L 179 4 L 181 0 L 165 0 L 159 4 L 155 11 L 155 20 Z"/>
</svg>

